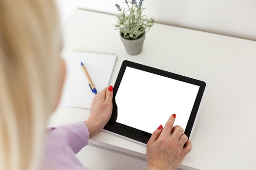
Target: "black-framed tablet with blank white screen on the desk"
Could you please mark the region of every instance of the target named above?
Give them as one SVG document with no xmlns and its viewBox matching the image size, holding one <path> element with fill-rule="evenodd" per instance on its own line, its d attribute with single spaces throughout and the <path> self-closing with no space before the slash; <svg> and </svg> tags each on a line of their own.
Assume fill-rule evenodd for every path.
<svg viewBox="0 0 256 170">
<path fill-rule="evenodd" d="M 191 138 L 205 86 L 203 81 L 125 60 L 104 131 L 145 145 L 158 126 L 176 114 L 174 126 Z"/>
</svg>

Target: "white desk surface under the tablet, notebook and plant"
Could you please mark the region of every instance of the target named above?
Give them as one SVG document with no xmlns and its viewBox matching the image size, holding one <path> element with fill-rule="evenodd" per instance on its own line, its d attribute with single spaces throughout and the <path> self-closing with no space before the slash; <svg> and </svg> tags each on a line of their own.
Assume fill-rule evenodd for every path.
<svg viewBox="0 0 256 170">
<path fill-rule="evenodd" d="M 124 59 L 205 81 L 193 150 L 181 168 L 256 169 L 256 42 L 155 24 L 146 34 L 141 54 L 130 56 L 114 30 L 115 23 L 115 16 L 75 10 L 64 24 L 63 54 L 73 49 L 117 53 L 111 85 Z M 88 114 L 86 109 L 59 107 L 49 124 L 85 120 Z M 90 145 L 135 157 L 144 157 L 146 151 L 105 132 L 94 136 Z"/>
</svg>

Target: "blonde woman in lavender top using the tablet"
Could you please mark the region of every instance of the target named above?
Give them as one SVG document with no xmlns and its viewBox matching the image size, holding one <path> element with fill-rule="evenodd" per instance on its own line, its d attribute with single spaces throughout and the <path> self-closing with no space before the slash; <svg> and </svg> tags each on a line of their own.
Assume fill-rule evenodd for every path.
<svg viewBox="0 0 256 170">
<path fill-rule="evenodd" d="M 53 0 L 0 0 L 0 170 L 85 170 L 75 154 L 112 112 L 113 87 L 100 91 L 87 120 L 45 130 L 65 79 Z M 175 170 L 191 151 L 172 115 L 147 144 L 148 170 Z"/>
</svg>

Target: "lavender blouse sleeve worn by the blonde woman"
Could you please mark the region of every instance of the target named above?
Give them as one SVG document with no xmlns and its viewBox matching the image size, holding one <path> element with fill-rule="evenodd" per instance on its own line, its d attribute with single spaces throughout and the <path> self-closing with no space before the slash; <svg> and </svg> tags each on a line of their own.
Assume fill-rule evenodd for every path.
<svg viewBox="0 0 256 170">
<path fill-rule="evenodd" d="M 88 144 L 89 132 L 84 122 L 64 124 L 49 129 L 46 135 L 43 170 L 88 170 L 76 157 Z"/>
</svg>

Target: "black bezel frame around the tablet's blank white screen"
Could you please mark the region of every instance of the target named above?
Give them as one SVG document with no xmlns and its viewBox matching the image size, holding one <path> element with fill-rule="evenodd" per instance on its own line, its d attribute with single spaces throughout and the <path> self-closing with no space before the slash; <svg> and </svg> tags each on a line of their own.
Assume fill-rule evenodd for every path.
<svg viewBox="0 0 256 170">
<path fill-rule="evenodd" d="M 186 83 L 189 83 L 189 84 L 199 86 L 199 90 L 198 90 L 198 93 L 197 93 L 197 98 L 195 100 L 194 106 L 192 108 L 192 111 L 191 111 L 191 114 L 190 114 L 190 117 L 189 117 L 189 120 L 188 120 L 187 127 L 186 127 L 185 132 L 184 132 L 189 138 L 189 136 L 191 134 L 191 131 L 192 131 L 192 128 L 193 128 L 193 125 L 194 125 L 194 122 L 195 122 L 195 119 L 197 117 L 197 111 L 198 111 L 198 108 L 199 108 L 199 105 L 200 105 L 200 102 L 201 102 L 201 99 L 202 99 L 202 96 L 203 96 L 203 92 L 204 92 L 206 83 L 203 82 L 203 81 L 199 81 L 199 80 L 196 80 L 196 79 L 192 79 L 192 78 L 189 78 L 189 77 L 185 77 L 185 76 L 182 76 L 182 75 L 178 75 L 178 74 L 175 74 L 175 73 L 164 71 L 164 70 L 161 70 L 161 69 L 158 69 L 158 68 L 152 68 L 152 67 L 145 66 L 145 65 L 142 65 L 142 64 L 134 63 L 134 62 L 131 62 L 131 61 L 128 61 L 128 60 L 124 60 L 122 62 L 121 68 L 119 70 L 118 77 L 117 77 L 116 83 L 115 83 L 114 88 L 113 88 L 114 96 L 113 96 L 112 116 L 111 116 L 109 122 L 104 127 L 104 129 L 107 130 L 107 131 L 116 133 L 118 135 L 125 136 L 125 137 L 128 137 L 128 138 L 137 140 L 137 141 L 145 143 L 145 144 L 148 142 L 149 138 L 152 135 L 148 132 L 145 132 L 145 131 L 142 131 L 142 130 L 139 130 L 139 129 L 136 129 L 136 128 L 133 128 L 133 127 L 121 124 L 121 123 L 118 123 L 116 121 L 117 120 L 117 112 L 118 112 L 117 110 L 118 110 L 118 108 L 117 108 L 117 105 L 116 105 L 115 97 L 116 97 L 116 94 L 118 92 L 118 88 L 119 88 L 119 85 L 122 81 L 122 77 L 123 77 L 123 74 L 125 72 L 126 67 L 136 68 L 136 69 L 139 69 L 139 70 L 147 71 L 147 72 L 150 72 L 150 73 L 158 74 L 158 75 L 161 75 L 161 76 L 164 76 L 164 77 L 168 77 L 168 78 L 171 78 L 171 79 L 175 79 L 175 80 L 179 80 L 179 81 L 182 81 L 182 82 L 186 82 Z M 144 120 L 142 120 L 142 121 L 144 121 Z"/>
</svg>

